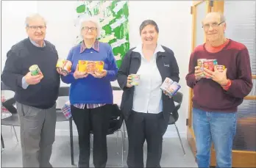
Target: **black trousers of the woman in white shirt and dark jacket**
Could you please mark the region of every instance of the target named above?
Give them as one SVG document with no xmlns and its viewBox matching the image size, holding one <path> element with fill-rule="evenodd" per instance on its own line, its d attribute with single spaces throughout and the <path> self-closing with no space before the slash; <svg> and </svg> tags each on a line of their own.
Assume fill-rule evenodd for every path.
<svg viewBox="0 0 256 168">
<path fill-rule="evenodd" d="M 147 143 L 146 167 L 160 167 L 163 134 L 168 126 L 163 119 L 163 113 L 148 114 L 132 111 L 126 125 L 129 139 L 128 167 L 144 167 L 143 144 L 145 139 Z"/>
</svg>

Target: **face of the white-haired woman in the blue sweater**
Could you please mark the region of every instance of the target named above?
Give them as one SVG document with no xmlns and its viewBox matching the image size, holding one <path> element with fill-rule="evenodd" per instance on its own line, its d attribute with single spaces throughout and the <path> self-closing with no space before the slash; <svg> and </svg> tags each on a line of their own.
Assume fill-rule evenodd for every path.
<svg viewBox="0 0 256 168">
<path fill-rule="evenodd" d="M 93 23 L 92 21 L 85 21 L 84 23 L 82 23 L 82 30 L 81 30 L 81 34 L 83 39 L 95 39 L 98 35 L 97 33 L 97 26 L 96 23 Z"/>
</svg>

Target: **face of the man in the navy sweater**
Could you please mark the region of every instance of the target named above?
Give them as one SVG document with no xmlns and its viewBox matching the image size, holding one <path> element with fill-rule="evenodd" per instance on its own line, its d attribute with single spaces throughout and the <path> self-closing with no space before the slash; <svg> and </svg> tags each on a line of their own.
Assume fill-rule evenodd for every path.
<svg viewBox="0 0 256 168">
<path fill-rule="evenodd" d="M 26 34 L 35 42 L 43 41 L 46 37 L 46 23 L 42 18 L 33 18 L 26 26 Z"/>
</svg>

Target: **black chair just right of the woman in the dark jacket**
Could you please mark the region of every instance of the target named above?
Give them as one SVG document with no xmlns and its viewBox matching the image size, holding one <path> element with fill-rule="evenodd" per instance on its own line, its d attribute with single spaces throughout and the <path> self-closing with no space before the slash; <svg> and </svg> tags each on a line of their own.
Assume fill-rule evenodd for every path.
<svg viewBox="0 0 256 168">
<path fill-rule="evenodd" d="M 179 119 L 178 110 L 179 110 L 179 108 L 180 108 L 180 106 L 181 106 L 182 98 L 183 98 L 183 94 L 182 94 L 181 92 L 177 92 L 177 94 L 174 95 L 174 97 L 173 97 L 174 102 L 177 102 L 178 104 L 175 106 L 174 112 L 172 112 L 172 113 L 170 114 L 169 121 L 168 121 L 168 125 L 175 125 L 177 134 L 178 134 L 178 136 L 179 136 L 179 142 L 180 142 L 180 145 L 182 146 L 182 150 L 183 150 L 183 153 L 184 153 L 184 155 L 185 155 L 185 150 L 184 150 L 184 147 L 183 147 L 183 144 L 182 144 L 182 139 L 180 138 L 179 130 L 178 130 L 177 125 L 176 125 L 176 122 L 177 122 L 177 120 Z"/>
</svg>

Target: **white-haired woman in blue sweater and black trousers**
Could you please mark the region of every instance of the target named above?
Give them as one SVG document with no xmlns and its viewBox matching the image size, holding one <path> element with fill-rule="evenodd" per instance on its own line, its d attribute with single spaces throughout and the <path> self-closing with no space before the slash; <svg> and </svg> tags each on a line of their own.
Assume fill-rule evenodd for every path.
<svg viewBox="0 0 256 168">
<path fill-rule="evenodd" d="M 113 104 L 110 81 L 117 78 L 118 67 L 108 43 L 101 43 L 99 23 L 89 18 L 81 23 L 82 43 L 71 48 L 68 60 L 72 62 L 71 73 L 62 81 L 71 84 L 69 100 L 71 114 L 79 136 L 78 167 L 89 167 L 90 131 L 93 131 L 93 164 L 105 167 L 107 163 L 107 128 Z M 79 70 L 79 60 L 102 61 L 104 69 L 96 72 Z"/>
</svg>

